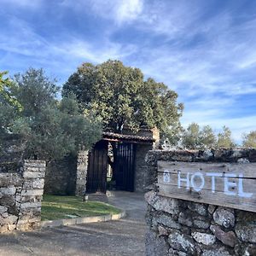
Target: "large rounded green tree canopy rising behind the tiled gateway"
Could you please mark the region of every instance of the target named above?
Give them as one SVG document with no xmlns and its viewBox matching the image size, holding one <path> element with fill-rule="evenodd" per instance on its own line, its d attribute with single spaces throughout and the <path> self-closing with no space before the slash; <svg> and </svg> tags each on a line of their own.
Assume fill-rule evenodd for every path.
<svg viewBox="0 0 256 256">
<path fill-rule="evenodd" d="M 132 131 L 157 126 L 167 133 L 179 126 L 183 112 L 175 91 L 154 79 L 144 80 L 140 69 L 125 67 L 121 61 L 84 63 L 63 86 L 63 96 L 70 92 L 102 120 L 104 129 L 115 132 L 124 126 Z"/>
</svg>

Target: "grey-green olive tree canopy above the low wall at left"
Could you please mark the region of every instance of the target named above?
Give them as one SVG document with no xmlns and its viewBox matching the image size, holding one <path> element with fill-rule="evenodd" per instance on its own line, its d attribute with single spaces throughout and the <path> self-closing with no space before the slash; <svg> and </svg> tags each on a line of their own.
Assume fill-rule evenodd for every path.
<svg viewBox="0 0 256 256">
<path fill-rule="evenodd" d="M 75 96 L 68 94 L 61 101 L 56 99 L 59 88 L 42 69 L 30 68 L 15 75 L 12 81 L 2 79 L 1 83 L 4 97 L 0 108 L 5 109 L 4 116 L 0 114 L 3 137 L 22 136 L 26 140 L 26 158 L 60 159 L 75 153 L 79 145 L 90 148 L 101 137 L 101 124 L 81 113 Z M 13 84 L 11 89 L 9 83 Z M 18 110 L 16 105 L 20 106 Z"/>
</svg>

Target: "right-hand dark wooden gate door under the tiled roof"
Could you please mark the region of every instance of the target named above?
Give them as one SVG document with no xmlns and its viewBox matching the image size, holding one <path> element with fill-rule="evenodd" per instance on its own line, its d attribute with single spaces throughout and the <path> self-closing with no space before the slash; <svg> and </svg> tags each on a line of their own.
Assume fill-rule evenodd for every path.
<svg viewBox="0 0 256 256">
<path fill-rule="evenodd" d="M 116 189 L 134 191 L 136 145 L 118 143 L 114 157 Z"/>
</svg>

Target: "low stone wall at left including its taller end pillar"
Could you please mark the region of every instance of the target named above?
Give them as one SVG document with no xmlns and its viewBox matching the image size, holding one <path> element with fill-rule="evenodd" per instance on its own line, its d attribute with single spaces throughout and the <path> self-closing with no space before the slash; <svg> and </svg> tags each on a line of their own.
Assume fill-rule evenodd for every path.
<svg viewBox="0 0 256 256">
<path fill-rule="evenodd" d="M 0 172 L 0 233 L 40 226 L 45 162 L 25 160 L 19 172 Z"/>
</svg>

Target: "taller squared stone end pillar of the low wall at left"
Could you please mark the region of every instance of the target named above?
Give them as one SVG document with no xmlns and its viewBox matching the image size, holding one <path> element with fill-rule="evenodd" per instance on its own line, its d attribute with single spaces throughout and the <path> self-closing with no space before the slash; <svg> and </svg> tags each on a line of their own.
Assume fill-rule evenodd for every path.
<svg viewBox="0 0 256 256">
<path fill-rule="evenodd" d="M 44 194 L 45 161 L 25 160 L 23 185 L 16 201 L 20 204 L 16 230 L 32 230 L 41 222 L 41 201 Z"/>
</svg>

